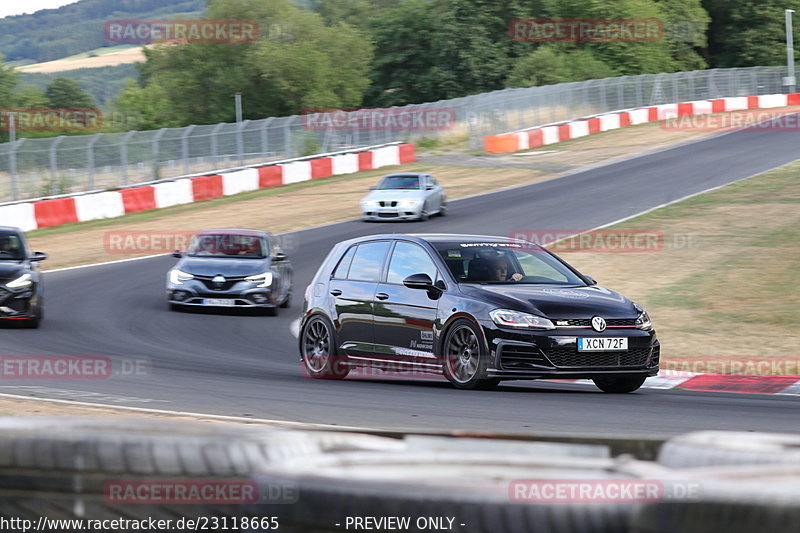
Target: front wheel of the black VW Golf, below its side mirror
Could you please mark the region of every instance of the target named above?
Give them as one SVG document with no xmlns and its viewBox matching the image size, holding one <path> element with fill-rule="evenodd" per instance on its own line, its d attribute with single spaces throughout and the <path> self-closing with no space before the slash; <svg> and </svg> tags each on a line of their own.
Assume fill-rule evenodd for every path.
<svg viewBox="0 0 800 533">
<path fill-rule="evenodd" d="M 486 354 L 477 329 L 469 320 L 457 320 L 447 330 L 442 343 L 444 376 L 457 389 L 493 389 L 500 383 L 487 378 L 489 356 Z"/>
</svg>

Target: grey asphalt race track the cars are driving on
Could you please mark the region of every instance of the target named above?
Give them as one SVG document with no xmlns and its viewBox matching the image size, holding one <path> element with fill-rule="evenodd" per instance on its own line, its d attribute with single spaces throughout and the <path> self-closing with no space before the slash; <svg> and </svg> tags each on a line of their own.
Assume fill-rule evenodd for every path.
<svg viewBox="0 0 800 533">
<path fill-rule="evenodd" d="M 797 399 L 789 396 L 644 389 L 609 395 L 594 387 L 544 382 L 473 392 L 452 389 L 435 377 L 316 381 L 301 374 L 290 333 L 305 286 L 339 240 L 384 232 L 589 229 L 783 165 L 798 157 L 798 147 L 798 132 L 736 132 L 453 202 L 448 216 L 425 223 L 354 220 L 290 234 L 295 294 L 292 307 L 277 317 L 168 311 L 164 280 L 176 261 L 172 257 L 53 272 L 45 276 L 43 327 L 0 329 L 0 355 L 101 355 L 110 356 L 118 369 L 130 370 L 121 365 L 132 359 L 147 361 L 147 368 L 106 379 L 4 376 L 0 393 L 391 429 L 654 436 L 694 429 L 800 432 Z M 713 353 L 713 347 L 698 350 Z"/>
</svg>

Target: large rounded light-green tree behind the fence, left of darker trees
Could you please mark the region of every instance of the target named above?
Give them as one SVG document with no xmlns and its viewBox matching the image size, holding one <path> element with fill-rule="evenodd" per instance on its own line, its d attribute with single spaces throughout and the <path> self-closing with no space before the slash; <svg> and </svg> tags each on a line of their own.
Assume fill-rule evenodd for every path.
<svg viewBox="0 0 800 533">
<path fill-rule="evenodd" d="M 211 19 L 258 22 L 257 42 L 162 45 L 146 51 L 139 86 L 117 98 L 123 112 L 152 127 L 232 122 L 242 93 L 246 119 L 299 113 L 306 107 L 361 104 L 372 58 L 369 40 L 289 0 L 211 0 Z M 148 104 L 159 99 L 159 104 Z"/>
</svg>

